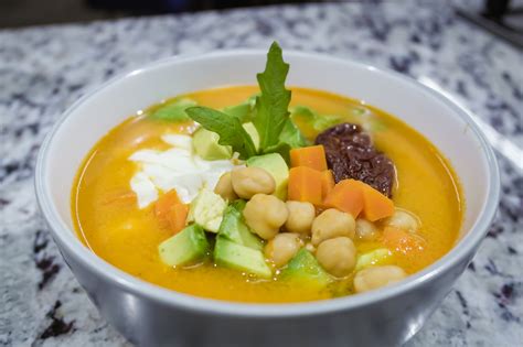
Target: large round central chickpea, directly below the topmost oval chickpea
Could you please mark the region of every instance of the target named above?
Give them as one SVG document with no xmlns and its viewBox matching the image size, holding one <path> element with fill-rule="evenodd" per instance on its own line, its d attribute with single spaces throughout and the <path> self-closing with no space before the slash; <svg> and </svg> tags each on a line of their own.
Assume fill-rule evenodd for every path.
<svg viewBox="0 0 523 347">
<path fill-rule="evenodd" d="M 287 220 L 288 212 L 282 200 L 274 195 L 256 194 L 244 209 L 245 223 L 260 238 L 268 240 L 278 234 Z"/>
</svg>

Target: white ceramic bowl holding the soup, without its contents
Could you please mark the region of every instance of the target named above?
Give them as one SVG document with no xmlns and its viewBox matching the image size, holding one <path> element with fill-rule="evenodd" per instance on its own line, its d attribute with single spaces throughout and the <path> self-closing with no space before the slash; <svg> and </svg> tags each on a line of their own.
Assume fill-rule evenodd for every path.
<svg viewBox="0 0 523 347">
<path fill-rule="evenodd" d="M 163 59 L 115 78 L 75 102 L 42 145 L 36 194 L 64 259 L 102 315 L 143 346 L 395 345 L 412 337 L 466 269 L 494 216 L 499 172 L 492 149 L 466 110 L 393 72 L 298 52 L 284 53 L 288 85 L 365 100 L 427 137 L 463 187 L 456 247 L 425 270 L 382 290 L 302 304 L 238 304 L 169 291 L 134 278 L 89 251 L 75 235 L 71 189 L 93 145 L 129 115 L 179 94 L 256 84 L 265 52 L 230 51 Z M 435 206 L 437 208 L 437 206 Z"/>
</svg>

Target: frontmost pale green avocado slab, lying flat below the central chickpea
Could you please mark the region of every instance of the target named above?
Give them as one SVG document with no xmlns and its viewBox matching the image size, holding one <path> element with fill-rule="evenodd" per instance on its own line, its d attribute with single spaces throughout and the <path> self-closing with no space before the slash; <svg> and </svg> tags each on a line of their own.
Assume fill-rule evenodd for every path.
<svg viewBox="0 0 523 347">
<path fill-rule="evenodd" d="M 218 265 L 256 274 L 260 278 L 267 279 L 273 275 L 260 250 L 238 245 L 222 236 L 216 238 L 214 261 Z"/>
</svg>

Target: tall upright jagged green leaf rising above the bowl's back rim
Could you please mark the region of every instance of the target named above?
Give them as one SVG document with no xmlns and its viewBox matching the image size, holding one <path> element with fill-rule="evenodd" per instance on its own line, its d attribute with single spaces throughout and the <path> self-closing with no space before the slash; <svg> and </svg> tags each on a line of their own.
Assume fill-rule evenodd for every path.
<svg viewBox="0 0 523 347">
<path fill-rule="evenodd" d="M 262 95 L 256 99 L 256 117 L 253 123 L 259 133 L 259 148 L 265 150 L 276 145 L 279 134 L 289 118 L 287 108 L 290 90 L 285 88 L 289 64 L 284 62 L 281 48 L 275 42 L 267 53 L 265 71 L 257 75 Z"/>
</svg>

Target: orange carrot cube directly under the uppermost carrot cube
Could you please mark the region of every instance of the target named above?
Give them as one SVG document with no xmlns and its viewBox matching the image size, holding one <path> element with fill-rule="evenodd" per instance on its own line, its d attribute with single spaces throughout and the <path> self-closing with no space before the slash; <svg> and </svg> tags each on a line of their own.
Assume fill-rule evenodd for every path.
<svg viewBox="0 0 523 347">
<path fill-rule="evenodd" d="M 287 199 L 321 204 L 321 172 L 308 166 L 291 167 Z"/>
</svg>

